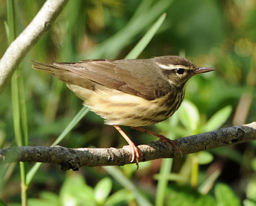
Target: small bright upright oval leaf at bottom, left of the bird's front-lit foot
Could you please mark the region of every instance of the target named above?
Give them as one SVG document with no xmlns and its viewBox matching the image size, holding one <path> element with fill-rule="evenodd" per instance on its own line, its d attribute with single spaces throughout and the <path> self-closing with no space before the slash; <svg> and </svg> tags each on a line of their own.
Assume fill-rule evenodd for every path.
<svg viewBox="0 0 256 206">
<path fill-rule="evenodd" d="M 94 188 L 96 202 L 102 205 L 102 203 L 104 203 L 106 198 L 109 196 L 111 188 L 112 181 L 110 178 L 105 177 L 102 180 L 100 180 Z"/>
</svg>

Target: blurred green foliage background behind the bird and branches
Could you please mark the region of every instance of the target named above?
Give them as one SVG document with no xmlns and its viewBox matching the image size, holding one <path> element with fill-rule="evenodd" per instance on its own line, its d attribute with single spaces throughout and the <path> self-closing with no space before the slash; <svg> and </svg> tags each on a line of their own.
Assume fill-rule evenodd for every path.
<svg viewBox="0 0 256 206">
<path fill-rule="evenodd" d="M 19 34 L 44 1 L 14 2 Z M 0 0 L 0 4 L 3 56 L 8 47 L 4 30 L 8 12 L 6 1 Z M 166 19 L 139 58 L 180 55 L 218 70 L 193 77 L 179 111 L 149 128 L 180 138 L 255 121 L 254 0 L 74 0 L 20 64 L 28 145 L 51 145 L 82 107 L 82 100 L 64 83 L 33 70 L 29 59 L 125 58 L 164 12 Z M 12 109 L 15 102 L 10 83 L 0 96 L 1 148 L 17 145 L 13 122 L 20 117 Z M 156 140 L 122 128 L 136 145 Z M 122 147 L 127 143 L 113 127 L 103 125 L 102 118 L 89 112 L 58 145 Z M 28 205 L 256 205 L 255 148 L 255 142 L 250 142 L 173 160 L 141 162 L 139 170 L 127 165 L 65 172 L 60 166 L 42 164 L 24 183 L 28 187 L 26 199 Z M 23 171 L 31 173 L 31 168 L 34 163 L 26 163 Z M 0 166 L 0 205 L 20 205 L 21 177 L 19 164 Z"/>
</svg>

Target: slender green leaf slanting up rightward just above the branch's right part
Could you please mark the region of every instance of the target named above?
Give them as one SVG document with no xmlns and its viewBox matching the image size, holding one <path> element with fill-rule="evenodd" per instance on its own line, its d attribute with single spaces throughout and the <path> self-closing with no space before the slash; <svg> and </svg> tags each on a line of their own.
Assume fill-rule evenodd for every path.
<svg viewBox="0 0 256 206">
<path fill-rule="evenodd" d="M 202 127 L 201 132 L 209 132 L 215 129 L 218 129 L 225 123 L 230 116 L 232 111 L 231 106 L 226 106 L 217 111 L 212 117 L 205 123 L 205 126 Z"/>
</svg>

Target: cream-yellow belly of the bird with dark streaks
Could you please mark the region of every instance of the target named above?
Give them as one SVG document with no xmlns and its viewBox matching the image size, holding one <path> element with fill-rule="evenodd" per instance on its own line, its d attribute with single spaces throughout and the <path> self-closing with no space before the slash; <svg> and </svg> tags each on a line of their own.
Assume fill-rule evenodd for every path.
<svg viewBox="0 0 256 206">
<path fill-rule="evenodd" d="M 84 106 L 105 119 L 108 125 L 126 125 L 140 127 L 166 120 L 179 108 L 184 95 L 177 102 L 170 101 L 171 95 L 161 99 L 146 100 L 118 90 L 86 90 L 69 86 L 78 97 L 84 100 Z M 161 101 L 160 101 L 161 100 Z M 166 104 L 169 102 L 169 104 Z"/>
</svg>

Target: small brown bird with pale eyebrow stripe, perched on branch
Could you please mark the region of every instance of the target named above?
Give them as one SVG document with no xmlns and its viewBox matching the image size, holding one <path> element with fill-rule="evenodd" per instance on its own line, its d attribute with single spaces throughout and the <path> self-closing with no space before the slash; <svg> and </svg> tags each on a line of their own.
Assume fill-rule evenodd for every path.
<svg viewBox="0 0 256 206">
<path fill-rule="evenodd" d="M 54 74 L 67 83 L 68 88 L 84 101 L 84 106 L 102 116 L 106 124 L 113 125 L 129 143 L 131 162 L 136 157 L 137 165 L 141 154 L 118 125 L 153 134 L 177 148 L 172 140 L 141 126 L 152 125 L 172 116 L 184 99 L 188 79 L 195 74 L 215 70 L 197 67 L 180 56 L 32 63 L 33 68 Z"/>
</svg>

